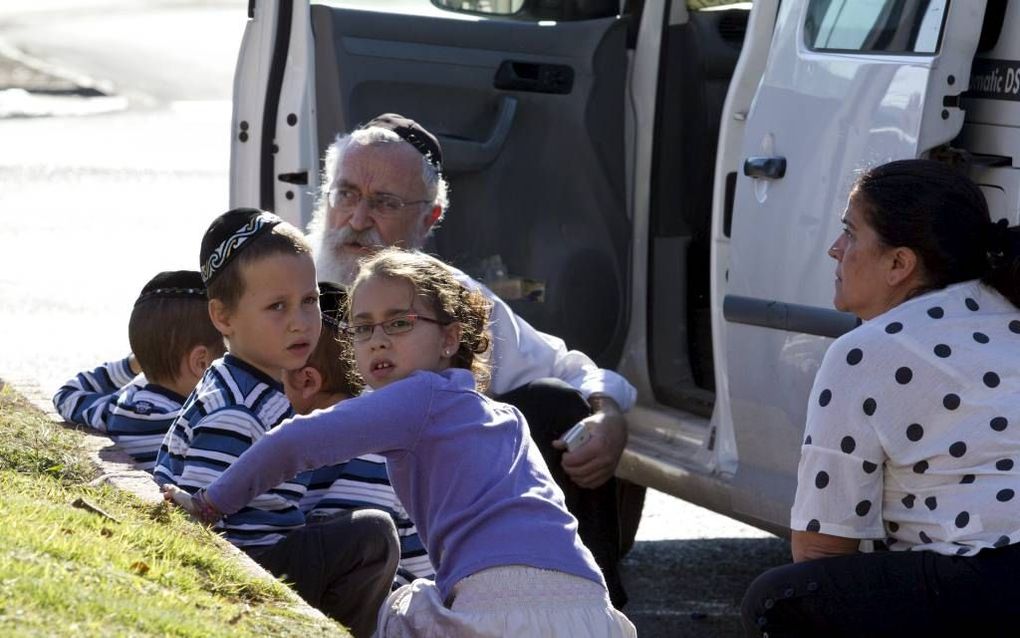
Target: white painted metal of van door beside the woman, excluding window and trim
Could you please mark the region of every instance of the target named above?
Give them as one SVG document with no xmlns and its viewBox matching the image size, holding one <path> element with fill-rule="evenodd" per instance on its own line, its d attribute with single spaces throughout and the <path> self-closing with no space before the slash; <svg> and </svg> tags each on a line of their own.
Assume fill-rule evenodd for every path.
<svg viewBox="0 0 1020 638">
<path fill-rule="evenodd" d="M 941 48 L 928 55 L 812 50 L 809 4 L 779 7 L 742 125 L 744 159 L 781 159 L 785 171 L 749 177 L 737 168 L 728 269 L 717 295 L 821 309 L 831 307 L 833 294 L 826 248 L 839 233 L 855 171 L 918 157 L 959 134 L 963 111 L 944 107 L 941 98 L 958 95 L 965 83 L 955 79 L 969 76 L 983 3 L 951 3 Z M 737 458 L 732 506 L 786 525 L 806 405 L 831 341 L 732 322 L 721 328 L 717 356 L 725 357 L 723 400 Z"/>
</svg>

